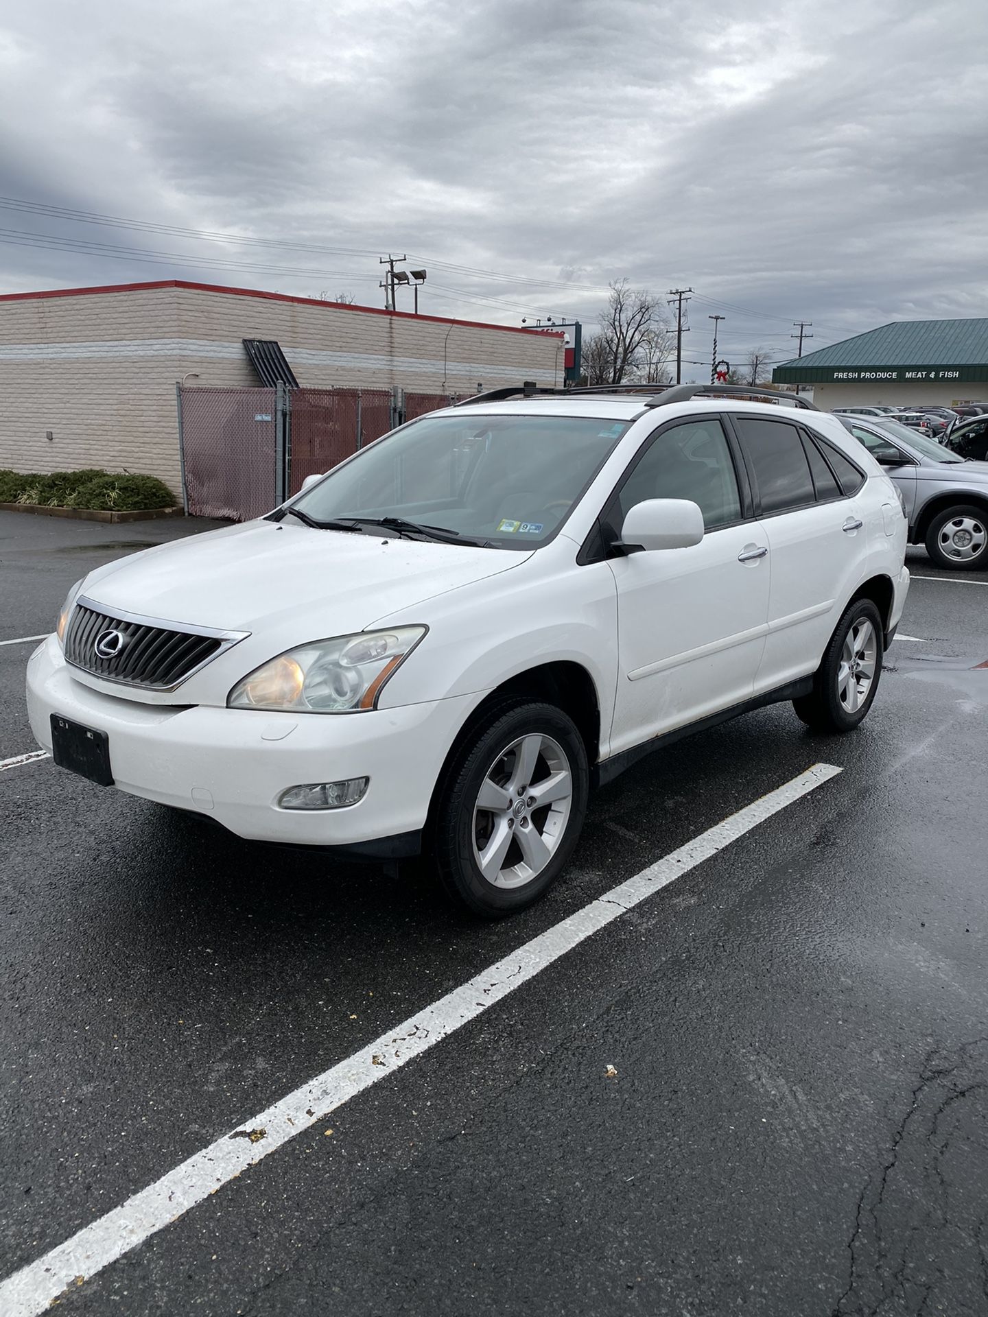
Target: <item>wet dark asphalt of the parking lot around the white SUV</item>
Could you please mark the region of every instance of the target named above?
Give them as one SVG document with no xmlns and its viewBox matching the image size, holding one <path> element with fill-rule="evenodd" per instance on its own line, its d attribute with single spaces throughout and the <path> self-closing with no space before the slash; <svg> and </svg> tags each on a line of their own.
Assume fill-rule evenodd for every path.
<svg viewBox="0 0 988 1317">
<path fill-rule="evenodd" d="M 22 637 L 84 572 L 203 528 L 0 512 L 0 763 L 36 749 Z M 856 734 L 780 706 L 659 752 L 493 926 L 427 864 L 0 768 L 0 1276 L 69 1258 L 59 1310 L 97 1317 L 988 1312 L 988 573 L 909 566 Z M 840 772 L 697 843 L 817 764 Z M 374 1083 L 303 1101 L 216 1192 L 174 1175 L 261 1158 L 261 1113 L 465 984 L 473 1018 L 407 1065 L 371 1051 Z M 129 1200 L 159 1183 L 151 1233 Z M 92 1267 L 80 1231 L 124 1205 L 138 1242 Z M 43 1272 L 0 1280 L 4 1317 L 47 1306 Z"/>
</svg>

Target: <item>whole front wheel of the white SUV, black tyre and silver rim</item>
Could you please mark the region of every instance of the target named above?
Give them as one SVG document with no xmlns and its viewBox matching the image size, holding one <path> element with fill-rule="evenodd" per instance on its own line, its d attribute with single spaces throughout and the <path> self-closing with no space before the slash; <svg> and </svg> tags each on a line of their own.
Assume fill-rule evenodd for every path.
<svg viewBox="0 0 988 1317">
<path fill-rule="evenodd" d="M 487 919 L 537 901 L 573 853 L 588 793 L 584 739 L 561 709 L 493 710 L 440 785 L 432 851 L 448 894 Z"/>
</svg>

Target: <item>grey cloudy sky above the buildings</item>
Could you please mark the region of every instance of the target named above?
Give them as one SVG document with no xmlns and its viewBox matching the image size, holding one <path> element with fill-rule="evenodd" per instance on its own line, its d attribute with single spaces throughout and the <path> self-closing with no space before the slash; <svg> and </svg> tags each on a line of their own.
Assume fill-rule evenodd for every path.
<svg viewBox="0 0 988 1317">
<path fill-rule="evenodd" d="M 394 252 L 505 324 L 690 286 L 698 361 L 983 316 L 985 51 L 984 0 L 5 0 L 0 291 L 379 306 Z"/>
</svg>

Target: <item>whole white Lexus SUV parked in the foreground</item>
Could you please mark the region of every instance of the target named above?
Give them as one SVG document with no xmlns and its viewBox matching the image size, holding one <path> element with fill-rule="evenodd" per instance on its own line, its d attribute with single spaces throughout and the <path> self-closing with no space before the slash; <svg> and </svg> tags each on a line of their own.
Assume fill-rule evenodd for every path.
<svg viewBox="0 0 988 1317">
<path fill-rule="evenodd" d="M 541 896 L 590 785 L 651 749 L 775 701 L 856 727 L 909 582 L 838 419 L 731 389 L 498 390 L 306 485 L 80 581 L 34 735 L 244 838 L 424 844 L 483 915 Z"/>
</svg>

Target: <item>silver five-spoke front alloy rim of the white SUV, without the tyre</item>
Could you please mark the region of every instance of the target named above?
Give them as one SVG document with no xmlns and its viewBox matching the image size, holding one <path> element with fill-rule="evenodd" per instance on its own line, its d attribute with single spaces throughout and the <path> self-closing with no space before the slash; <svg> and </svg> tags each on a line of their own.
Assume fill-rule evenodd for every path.
<svg viewBox="0 0 988 1317">
<path fill-rule="evenodd" d="M 511 741 L 481 782 L 473 853 L 493 886 L 520 888 L 545 868 L 566 831 L 573 772 L 566 752 L 541 732 Z"/>
</svg>

